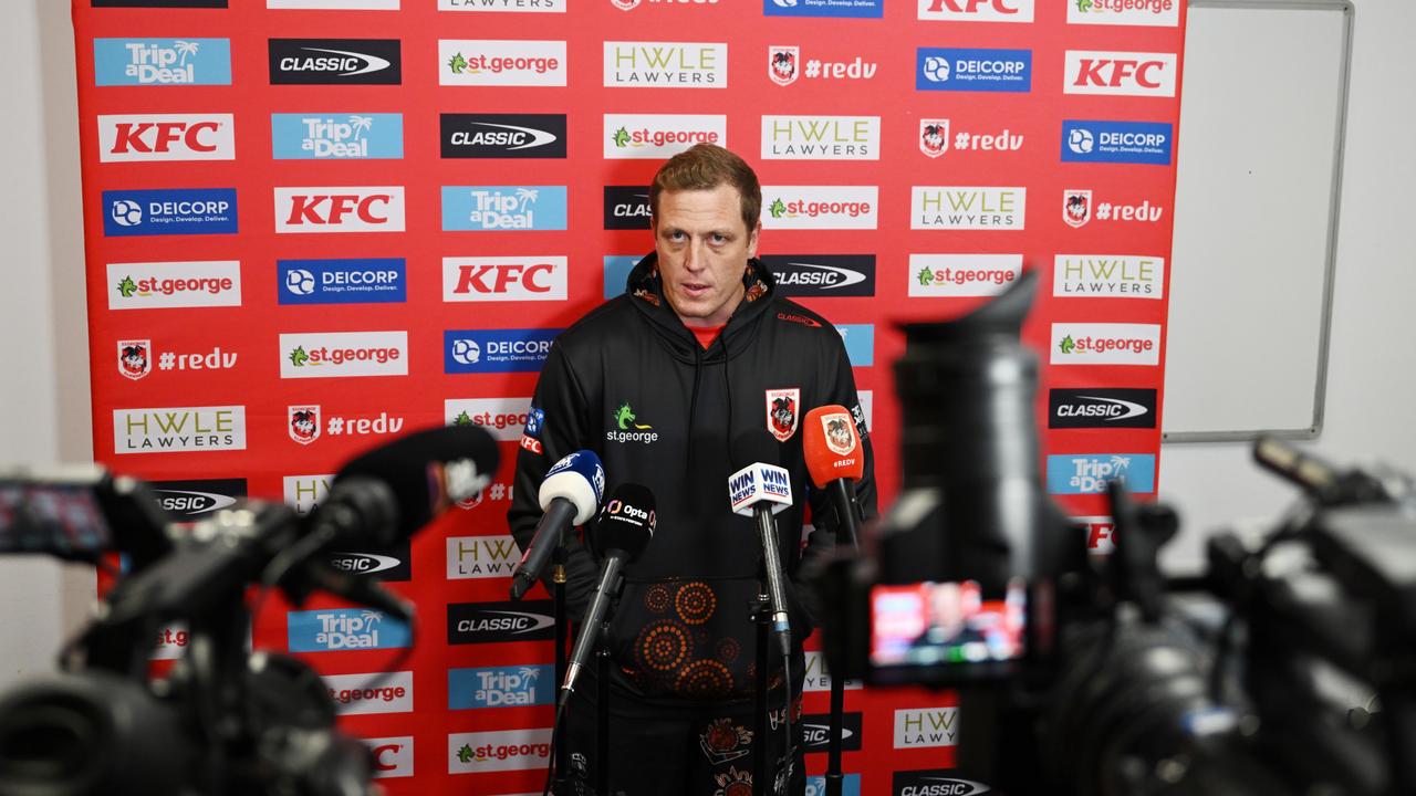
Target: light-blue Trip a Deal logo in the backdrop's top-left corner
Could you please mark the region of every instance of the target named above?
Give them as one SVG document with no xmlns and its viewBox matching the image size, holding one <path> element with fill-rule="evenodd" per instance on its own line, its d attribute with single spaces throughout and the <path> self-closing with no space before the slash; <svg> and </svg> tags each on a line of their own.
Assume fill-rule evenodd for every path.
<svg viewBox="0 0 1416 796">
<path fill-rule="evenodd" d="M 93 85 L 231 85 L 231 40 L 95 38 Z"/>
</svg>

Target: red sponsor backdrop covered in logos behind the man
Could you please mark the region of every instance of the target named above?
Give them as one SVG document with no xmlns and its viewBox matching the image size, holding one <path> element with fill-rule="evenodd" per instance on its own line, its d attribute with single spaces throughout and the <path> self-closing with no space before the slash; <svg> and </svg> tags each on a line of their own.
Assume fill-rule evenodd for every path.
<svg viewBox="0 0 1416 796">
<path fill-rule="evenodd" d="M 459 333 L 562 329 L 616 292 L 623 258 L 650 246 L 616 228 L 644 221 L 633 187 L 688 140 L 755 163 L 763 254 L 792 255 L 775 266 L 799 300 L 845 327 L 882 506 L 899 484 L 891 322 L 959 314 L 1020 266 L 1041 276 L 1025 339 L 1058 500 L 1104 523 L 1090 479 L 1154 482 L 1184 37 L 1170 0 L 224 6 L 74 4 L 95 450 L 118 472 L 244 480 L 309 508 L 326 473 L 401 429 L 463 411 L 503 426 L 496 483 L 419 534 L 391 585 L 419 610 L 411 676 L 355 694 L 340 676 L 384 671 L 398 649 L 304 654 L 347 700 L 344 725 L 382 739 L 391 793 L 539 790 L 552 684 L 507 673 L 548 664 L 549 644 L 453 643 L 470 640 L 463 612 L 506 599 L 510 465 L 537 378 L 514 358 L 538 344 Z M 497 370 L 501 354 L 527 370 Z M 1148 419 L 1058 419 L 1048 388 L 1138 390 Z M 258 646 L 378 640 L 334 602 L 304 606 L 326 609 L 313 630 L 276 602 Z M 947 768 L 952 704 L 848 691 L 860 792 Z M 806 711 L 827 711 L 824 691 Z"/>
</svg>

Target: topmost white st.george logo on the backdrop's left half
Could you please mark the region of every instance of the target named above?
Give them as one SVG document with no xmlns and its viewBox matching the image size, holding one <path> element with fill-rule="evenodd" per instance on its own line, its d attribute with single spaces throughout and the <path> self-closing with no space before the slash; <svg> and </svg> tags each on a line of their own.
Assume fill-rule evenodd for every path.
<svg viewBox="0 0 1416 796">
<path fill-rule="evenodd" d="M 564 41 L 438 41 L 438 84 L 474 86 L 564 86 Z"/>
</svg>

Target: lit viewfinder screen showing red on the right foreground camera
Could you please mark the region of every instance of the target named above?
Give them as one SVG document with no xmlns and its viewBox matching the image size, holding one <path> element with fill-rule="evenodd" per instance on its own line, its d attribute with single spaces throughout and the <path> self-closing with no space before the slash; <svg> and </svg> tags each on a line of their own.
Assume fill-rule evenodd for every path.
<svg viewBox="0 0 1416 796">
<path fill-rule="evenodd" d="M 976 581 L 871 589 L 871 666 L 935 667 L 1022 657 L 1027 589 L 983 599 Z"/>
</svg>

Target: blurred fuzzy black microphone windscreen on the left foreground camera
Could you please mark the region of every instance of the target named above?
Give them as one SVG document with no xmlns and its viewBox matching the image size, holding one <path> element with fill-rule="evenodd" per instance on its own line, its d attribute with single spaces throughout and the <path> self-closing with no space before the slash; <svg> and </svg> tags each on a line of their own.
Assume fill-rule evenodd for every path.
<svg viewBox="0 0 1416 796">
<path fill-rule="evenodd" d="M 447 506 L 472 497 L 497 472 L 497 440 L 474 425 L 409 433 L 350 460 L 334 476 L 384 482 L 398 500 L 398 537 L 406 538 Z"/>
</svg>

